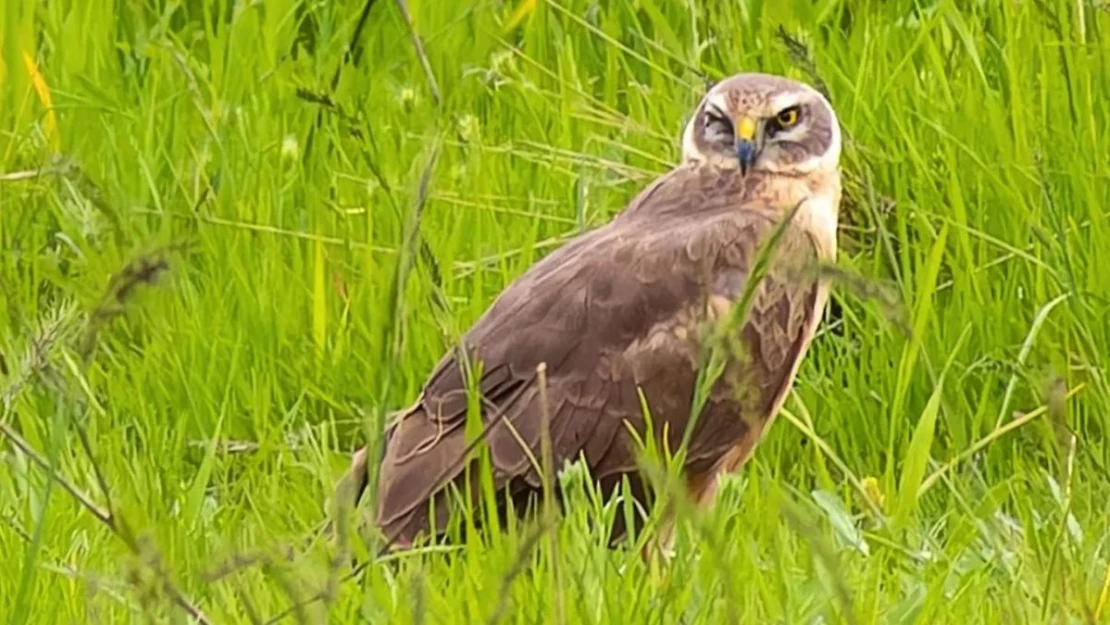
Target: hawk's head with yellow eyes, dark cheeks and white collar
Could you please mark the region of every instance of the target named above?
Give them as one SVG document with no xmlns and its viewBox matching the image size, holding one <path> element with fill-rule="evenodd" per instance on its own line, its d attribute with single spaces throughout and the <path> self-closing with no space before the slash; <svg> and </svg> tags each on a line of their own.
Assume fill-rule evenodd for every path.
<svg viewBox="0 0 1110 625">
<path fill-rule="evenodd" d="M 683 133 L 683 160 L 745 174 L 831 172 L 840 161 L 840 127 L 816 89 L 778 75 L 740 73 L 702 99 Z"/>
</svg>

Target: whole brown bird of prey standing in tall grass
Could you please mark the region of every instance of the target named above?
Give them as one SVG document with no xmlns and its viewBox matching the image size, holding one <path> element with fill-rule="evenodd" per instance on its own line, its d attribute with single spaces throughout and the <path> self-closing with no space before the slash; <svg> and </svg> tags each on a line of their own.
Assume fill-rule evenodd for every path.
<svg viewBox="0 0 1110 625">
<path fill-rule="evenodd" d="M 716 83 L 685 127 L 682 163 L 509 284 L 387 425 L 383 534 L 401 547 L 442 534 L 457 504 L 448 486 L 470 481 L 480 492 L 478 472 L 465 471 L 477 466 L 465 432 L 468 389 L 481 393 L 501 502 L 542 490 L 544 426 L 556 466 L 584 461 L 606 496 L 626 478 L 646 501 L 636 460 L 646 407 L 657 444 L 672 451 L 696 417 L 683 477 L 692 498 L 709 504 L 720 476 L 745 464 L 775 420 L 823 315 L 827 278 L 799 269 L 836 256 L 840 142 L 830 103 L 807 84 L 764 73 Z M 773 234 L 767 269 L 749 290 Z M 740 301 L 746 315 L 726 341 L 739 350 L 726 352 L 695 413 L 707 329 Z M 355 503 L 366 463 L 362 447 L 341 483 Z"/>
</svg>

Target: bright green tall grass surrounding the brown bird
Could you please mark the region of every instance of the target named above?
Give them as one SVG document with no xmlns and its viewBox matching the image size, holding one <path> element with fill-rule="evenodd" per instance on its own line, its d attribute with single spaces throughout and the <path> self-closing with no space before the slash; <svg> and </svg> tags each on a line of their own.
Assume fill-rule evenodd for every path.
<svg viewBox="0 0 1110 625">
<path fill-rule="evenodd" d="M 0 614 L 1110 622 L 1108 29 L 1093 0 L 4 2 Z M 900 303 L 836 291 L 668 569 L 601 546 L 572 472 L 552 531 L 346 578 L 367 546 L 305 538 L 350 452 L 737 71 L 827 89 L 841 263 Z"/>
</svg>

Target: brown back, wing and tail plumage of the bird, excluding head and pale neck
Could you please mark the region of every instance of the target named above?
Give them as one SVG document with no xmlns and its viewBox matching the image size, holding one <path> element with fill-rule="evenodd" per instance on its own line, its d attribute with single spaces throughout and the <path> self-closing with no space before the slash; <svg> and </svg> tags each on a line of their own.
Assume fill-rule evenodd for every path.
<svg viewBox="0 0 1110 625">
<path fill-rule="evenodd" d="M 669 423 L 677 445 L 694 393 L 698 324 L 715 302 L 739 296 L 758 245 L 783 212 L 749 194 L 750 183 L 727 172 L 675 170 L 608 225 L 556 250 L 511 284 L 464 336 L 467 359 L 457 350 L 447 354 L 420 401 L 386 433 L 377 513 L 386 535 L 410 543 L 425 532 L 430 500 L 437 513 L 431 525 L 442 530 L 446 520 L 443 487 L 465 466 L 461 360 L 482 363 L 477 386 L 498 488 L 539 485 L 529 461 L 538 457 L 544 410 L 539 363 L 546 363 L 556 466 L 582 455 L 595 477 L 610 484 L 634 472 L 624 422 L 643 432 L 637 387 L 656 431 Z M 781 249 L 814 255 L 797 230 L 787 231 Z M 729 384 L 750 390 L 749 399 L 737 399 L 725 384 L 714 392 L 698 417 L 692 466 L 723 455 L 788 387 L 814 293 L 811 283 L 778 271 L 764 280 L 754 321 L 741 332 L 753 359 L 727 375 Z M 360 482 L 360 493 L 364 486 Z"/>
</svg>

